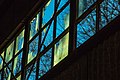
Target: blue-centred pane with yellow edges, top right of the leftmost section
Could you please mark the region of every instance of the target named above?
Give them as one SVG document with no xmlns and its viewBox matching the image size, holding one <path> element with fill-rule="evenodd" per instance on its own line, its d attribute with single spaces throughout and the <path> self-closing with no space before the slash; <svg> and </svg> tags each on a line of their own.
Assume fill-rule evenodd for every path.
<svg viewBox="0 0 120 80">
<path fill-rule="evenodd" d="M 19 52 L 23 48 L 23 43 L 24 43 L 24 31 L 23 30 L 17 37 L 16 39 L 16 51 L 15 53 Z"/>
</svg>

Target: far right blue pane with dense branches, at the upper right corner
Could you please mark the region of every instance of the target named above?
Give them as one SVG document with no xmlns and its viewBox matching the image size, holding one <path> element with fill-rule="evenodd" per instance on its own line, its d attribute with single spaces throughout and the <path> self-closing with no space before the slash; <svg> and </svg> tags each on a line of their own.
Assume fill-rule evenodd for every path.
<svg viewBox="0 0 120 80">
<path fill-rule="evenodd" d="M 102 29 L 111 20 L 120 15 L 120 5 L 118 0 L 104 0 L 100 4 L 100 15 L 100 29 Z"/>
</svg>

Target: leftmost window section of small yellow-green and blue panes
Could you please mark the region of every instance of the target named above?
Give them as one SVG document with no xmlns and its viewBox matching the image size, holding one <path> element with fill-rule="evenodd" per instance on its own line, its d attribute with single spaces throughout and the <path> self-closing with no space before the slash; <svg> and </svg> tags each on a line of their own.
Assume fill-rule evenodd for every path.
<svg viewBox="0 0 120 80">
<path fill-rule="evenodd" d="M 24 29 L 5 48 L 0 56 L 0 79 L 10 80 L 21 71 L 23 43 Z"/>
</svg>

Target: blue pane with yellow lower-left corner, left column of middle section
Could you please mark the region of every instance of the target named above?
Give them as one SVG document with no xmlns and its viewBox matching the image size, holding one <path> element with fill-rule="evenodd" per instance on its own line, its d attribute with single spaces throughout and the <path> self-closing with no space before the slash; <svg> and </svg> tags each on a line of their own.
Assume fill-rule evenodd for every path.
<svg viewBox="0 0 120 80">
<path fill-rule="evenodd" d="M 38 53 L 38 36 L 29 44 L 29 53 L 28 53 L 28 60 L 27 62 L 29 63 L 34 59 L 34 57 Z"/>
</svg>

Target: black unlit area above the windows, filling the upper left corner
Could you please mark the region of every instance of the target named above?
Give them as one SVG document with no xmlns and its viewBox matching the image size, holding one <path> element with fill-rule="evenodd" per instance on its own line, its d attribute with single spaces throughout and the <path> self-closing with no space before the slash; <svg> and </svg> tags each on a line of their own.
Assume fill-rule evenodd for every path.
<svg viewBox="0 0 120 80">
<path fill-rule="evenodd" d="M 17 27 L 38 0 L 4 0 L 0 2 L 0 44 Z"/>
</svg>

